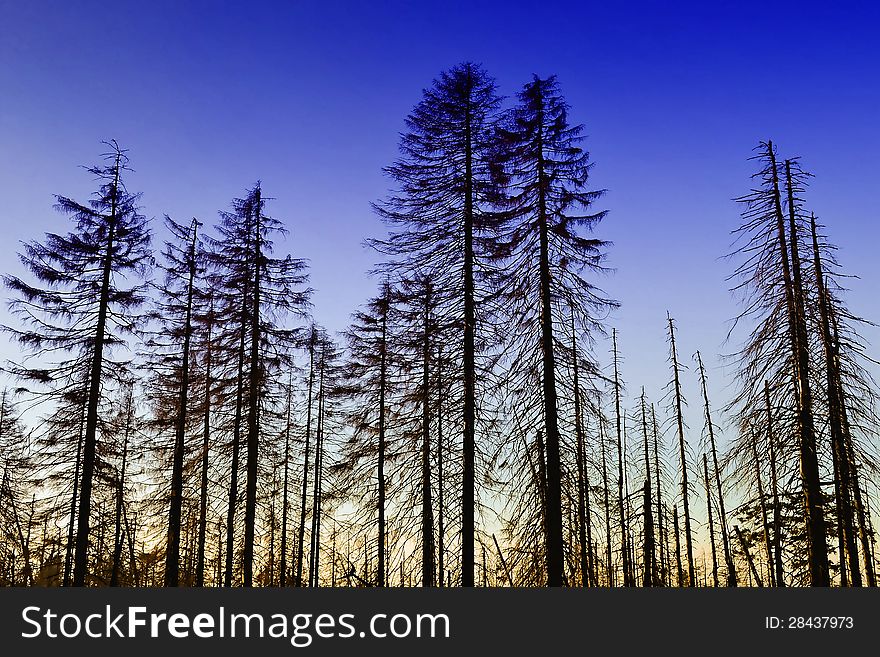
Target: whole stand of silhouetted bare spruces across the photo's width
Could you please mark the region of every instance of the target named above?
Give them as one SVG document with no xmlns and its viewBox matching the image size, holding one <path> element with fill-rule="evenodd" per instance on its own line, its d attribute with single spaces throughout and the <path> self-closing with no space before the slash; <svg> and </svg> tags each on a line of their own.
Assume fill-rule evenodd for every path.
<svg viewBox="0 0 880 657">
<path fill-rule="evenodd" d="M 628 395 L 570 111 L 554 76 L 434 80 L 338 335 L 259 182 L 154 251 L 109 142 L 4 277 L 0 583 L 874 586 L 873 361 L 809 174 L 761 143 L 738 199 L 731 402 L 669 314 L 668 386 Z"/>
</svg>

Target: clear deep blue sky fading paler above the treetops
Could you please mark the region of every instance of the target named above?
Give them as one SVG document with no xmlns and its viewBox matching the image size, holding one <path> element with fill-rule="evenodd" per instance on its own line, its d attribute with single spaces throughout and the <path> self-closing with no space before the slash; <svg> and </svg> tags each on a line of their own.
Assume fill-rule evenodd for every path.
<svg viewBox="0 0 880 657">
<path fill-rule="evenodd" d="M 384 229 L 369 204 L 421 90 L 464 60 L 505 95 L 555 73 L 608 189 L 597 235 L 617 271 L 601 285 L 622 303 L 609 326 L 630 391 L 656 398 L 668 377 L 669 309 L 718 406 L 737 312 L 720 257 L 760 139 L 816 175 L 809 207 L 862 277 L 850 305 L 880 320 L 880 10 L 669 4 L 0 0 L 0 269 L 18 267 L 18 241 L 65 229 L 52 194 L 85 200 L 78 167 L 115 138 L 157 226 L 164 213 L 212 222 L 261 179 L 291 231 L 278 251 L 311 260 L 316 316 L 341 329 L 374 293 L 361 244 Z M 867 338 L 880 356 L 880 332 Z M 694 377 L 685 391 L 698 408 Z"/>
</svg>

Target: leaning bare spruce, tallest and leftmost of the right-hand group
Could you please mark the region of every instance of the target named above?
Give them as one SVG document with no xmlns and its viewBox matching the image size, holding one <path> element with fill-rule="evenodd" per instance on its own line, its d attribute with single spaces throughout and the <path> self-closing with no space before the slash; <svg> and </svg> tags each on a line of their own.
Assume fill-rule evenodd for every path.
<svg viewBox="0 0 880 657">
<path fill-rule="evenodd" d="M 754 471 L 747 463 L 751 424 L 766 414 L 766 381 L 777 409 L 774 431 L 780 463 L 776 465 L 784 463 L 786 469 L 798 471 L 807 578 L 813 586 L 828 586 L 825 500 L 814 417 L 816 382 L 811 379 L 815 372 L 815 363 L 811 363 L 814 338 L 808 331 L 813 313 L 812 304 L 806 303 L 810 292 L 802 272 L 808 261 L 800 255 L 809 233 L 797 198 L 803 177 L 791 164 L 786 167 L 778 161 L 772 142 L 762 142 L 756 150 L 753 159 L 760 170 L 753 178 L 758 184 L 737 199 L 744 209 L 742 223 L 734 231 L 737 248 L 732 254 L 741 259 L 731 276 L 744 308 L 737 323 L 750 320 L 754 326 L 735 355 L 738 389 L 730 406 L 740 418 L 740 437 L 731 445 L 731 454 L 740 465 L 749 466 L 741 472 Z"/>
</svg>

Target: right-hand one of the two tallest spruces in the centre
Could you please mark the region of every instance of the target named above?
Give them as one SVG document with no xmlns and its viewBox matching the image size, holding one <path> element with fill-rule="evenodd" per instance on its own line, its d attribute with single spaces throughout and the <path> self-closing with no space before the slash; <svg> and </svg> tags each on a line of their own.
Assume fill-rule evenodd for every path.
<svg viewBox="0 0 880 657">
<path fill-rule="evenodd" d="M 612 305 L 584 273 L 601 270 L 601 240 L 584 232 L 605 216 L 592 206 L 602 191 L 587 189 L 589 153 L 580 146 L 583 126 L 570 125 L 568 106 L 555 77 L 534 76 L 501 130 L 507 179 L 504 214 L 496 242 L 498 293 L 515 322 L 512 367 L 534 368 L 541 390 L 546 435 L 547 584 L 564 580 L 562 455 L 560 453 L 557 361 L 561 331 L 575 316 L 579 329 L 595 328 L 597 315 Z M 537 300 L 537 303 L 535 301 Z"/>
</svg>

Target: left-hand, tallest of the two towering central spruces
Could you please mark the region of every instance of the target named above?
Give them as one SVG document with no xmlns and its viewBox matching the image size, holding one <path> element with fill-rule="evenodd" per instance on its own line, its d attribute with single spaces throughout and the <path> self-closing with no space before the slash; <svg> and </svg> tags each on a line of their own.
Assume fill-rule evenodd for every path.
<svg viewBox="0 0 880 657">
<path fill-rule="evenodd" d="M 391 256 L 386 270 L 416 270 L 454 292 L 445 312 L 460 322 L 462 399 L 461 583 L 474 585 L 476 524 L 477 335 L 480 258 L 491 239 L 497 200 L 494 80 L 470 62 L 440 74 L 406 120 L 400 158 L 385 169 L 398 185 L 374 207 L 391 232 L 372 244 Z"/>
</svg>

